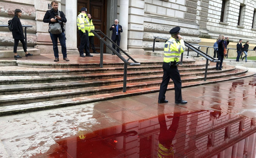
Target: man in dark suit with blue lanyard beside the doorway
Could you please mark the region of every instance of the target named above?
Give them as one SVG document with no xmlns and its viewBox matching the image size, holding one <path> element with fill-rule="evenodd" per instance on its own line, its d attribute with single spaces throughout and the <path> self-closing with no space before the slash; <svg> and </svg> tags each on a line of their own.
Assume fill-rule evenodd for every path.
<svg viewBox="0 0 256 158">
<path fill-rule="evenodd" d="M 114 20 L 114 24 L 109 28 L 109 31 L 112 31 L 111 39 L 114 43 L 117 43 L 118 46 L 120 46 L 120 40 L 121 40 L 121 32 L 123 32 L 122 26 L 119 25 L 118 20 Z M 115 49 L 116 46 L 112 44 L 112 47 Z M 117 52 L 119 53 L 119 48 L 117 48 Z M 114 55 L 114 52 L 112 53 Z"/>
</svg>

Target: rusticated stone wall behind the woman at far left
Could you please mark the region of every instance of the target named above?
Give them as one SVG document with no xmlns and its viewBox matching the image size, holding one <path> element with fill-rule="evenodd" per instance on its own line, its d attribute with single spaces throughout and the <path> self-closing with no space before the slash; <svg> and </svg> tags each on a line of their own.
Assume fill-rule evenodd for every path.
<svg viewBox="0 0 256 158">
<path fill-rule="evenodd" d="M 32 25 L 27 27 L 27 47 L 34 47 L 37 42 L 35 35 L 37 27 L 35 22 L 36 12 L 34 0 L 2 0 L 0 5 L 0 25 L 8 25 L 8 20 L 14 16 L 15 9 L 22 10 L 22 16 L 20 22 L 22 25 Z M 24 28 L 24 27 L 23 27 Z M 24 32 L 24 29 L 23 29 Z M 12 32 L 8 27 L 0 27 L 0 50 L 12 49 L 14 39 L 12 38 Z M 18 49 L 22 49 L 22 44 L 19 44 Z"/>
</svg>

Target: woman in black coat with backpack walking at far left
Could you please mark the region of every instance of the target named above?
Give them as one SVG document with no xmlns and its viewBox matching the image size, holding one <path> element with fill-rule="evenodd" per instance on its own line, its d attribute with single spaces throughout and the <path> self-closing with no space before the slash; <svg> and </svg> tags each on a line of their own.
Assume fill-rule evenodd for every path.
<svg viewBox="0 0 256 158">
<path fill-rule="evenodd" d="M 21 12 L 22 11 L 20 9 L 15 9 L 14 17 L 12 18 L 12 24 L 13 24 L 12 37 L 14 38 L 14 46 L 13 46 L 14 58 L 22 58 L 17 54 L 17 47 L 18 47 L 19 41 L 22 43 L 25 56 L 28 57 L 33 55 L 27 52 L 27 44 L 24 40 L 25 37 L 23 34 L 23 28 L 20 22 L 20 17 L 22 14 Z"/>
</svg>

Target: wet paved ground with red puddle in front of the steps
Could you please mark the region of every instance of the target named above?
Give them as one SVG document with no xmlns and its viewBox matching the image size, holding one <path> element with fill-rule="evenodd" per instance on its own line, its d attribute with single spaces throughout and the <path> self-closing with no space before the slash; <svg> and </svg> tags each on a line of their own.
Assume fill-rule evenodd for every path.
<svg viewBox="0 0 256 158">
<path fill-rule="evenodd" d="M 255 158 L 256 75 L 0 117 L 0 158 Z"/>
</svg>

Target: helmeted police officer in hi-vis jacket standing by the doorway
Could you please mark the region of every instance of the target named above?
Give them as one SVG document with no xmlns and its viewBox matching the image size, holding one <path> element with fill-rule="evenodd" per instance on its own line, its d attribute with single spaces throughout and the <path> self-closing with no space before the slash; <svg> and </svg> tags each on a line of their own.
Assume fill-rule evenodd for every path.
<svg viewBox="0 0 256 158">
<path fill-rule="evenodd" d="M 80 57 L 93 57 L 93 55 L 91 55 L 89 52 L 88 32 L 90 31 L 90 22 L 86 13 L 87 13 L 87 9 L 85 7 L 82 7 L 79 12 L 79 15 L 77 16 L 78 33 L 81 39 L 79 53 L 80 53 Z M 84 49 L 85 49 L 85 55 L 84 55 Z"/>
</svg>

